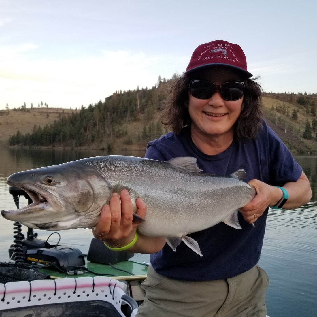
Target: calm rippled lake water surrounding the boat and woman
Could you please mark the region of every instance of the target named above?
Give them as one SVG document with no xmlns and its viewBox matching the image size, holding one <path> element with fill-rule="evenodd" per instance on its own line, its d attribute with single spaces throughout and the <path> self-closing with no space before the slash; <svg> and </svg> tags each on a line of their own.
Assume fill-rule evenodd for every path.
<svg viewBox="0 0 317 317">
<path fill-rule="evenodd" d="M 104 151 L 29 150 L 2 148 L 0 158 L 0 208 L 14 209 L 6 178 L 17 171 L 55 165 L 91 156 L 107 155 Z M 143 157 L 144 152 L 121 152 L 120 155 Z M 266 304 L 270 317 L 317 316 L 317 157 L 296 157 L 311 181 L 312 200 L 295 210 L 269 210 L 260 265 L 266 270 L 270 286 Z M 27 204 L 20 197 L 20 207 Z M 0 217 L 0 261 L 8 261 L 8 248 L 13 241 L 13 222 Z M 26 227 L 22 227 L 26 234 Z M 35 230 L 46 240 L 51 232 Z M 87 253 L 90 230 L 59 231 L 61 244 L 73 245 Z M 57 235 L 49 238 L 54 244 Z M 148 261 L 148 255 L 133 257 L 136 262 Z"/>
</svg>

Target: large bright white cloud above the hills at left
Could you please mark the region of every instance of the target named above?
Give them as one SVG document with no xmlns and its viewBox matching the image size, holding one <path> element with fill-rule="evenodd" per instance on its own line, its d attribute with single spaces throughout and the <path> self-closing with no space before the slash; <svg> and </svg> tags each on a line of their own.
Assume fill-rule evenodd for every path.
<svg viewBox="0 0 317 317">
<path fill-rule="evenodd" d="M 52 107 L 88 106 L 116 90 L 151 88 L 159 75 L 161 58 L 142 52 L 102 50 L 72 59 L 34 58 L 37 49 L 30 43 L 0 47 L 0 60 L 5 60 L 0 63 L 0 107 L 41 101 Z"/>
</svg>

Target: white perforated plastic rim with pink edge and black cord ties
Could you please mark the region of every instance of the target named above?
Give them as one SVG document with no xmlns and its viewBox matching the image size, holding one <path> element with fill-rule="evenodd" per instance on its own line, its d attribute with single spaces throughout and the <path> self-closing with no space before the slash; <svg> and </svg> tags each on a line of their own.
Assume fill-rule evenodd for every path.
<svg viewBox="0 0 317 317">
<path fill-rule="evenodd" d="M 125 291 L 105 276 L 9 282 L 0 284 L 0 316 L 135 316 L 138 305 Z"/>
</svg>

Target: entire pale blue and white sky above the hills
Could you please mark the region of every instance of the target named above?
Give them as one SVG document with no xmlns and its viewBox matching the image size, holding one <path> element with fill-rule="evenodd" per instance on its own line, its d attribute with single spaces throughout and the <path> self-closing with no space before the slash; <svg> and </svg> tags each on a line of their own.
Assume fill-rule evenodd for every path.
<svg viewBox="0 0 317 317">
<path fill-rule="evenodd" d="M 265 92 L 317 92 L 317 1 L 0 0 L 0 109 L 81 108 L 240 45 Z"/>
</svg>

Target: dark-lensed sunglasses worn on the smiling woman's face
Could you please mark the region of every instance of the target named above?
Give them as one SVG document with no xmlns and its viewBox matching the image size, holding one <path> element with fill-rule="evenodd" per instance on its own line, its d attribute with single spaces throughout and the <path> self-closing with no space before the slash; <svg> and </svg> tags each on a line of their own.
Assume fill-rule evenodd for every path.
<svg viewBox="0 0 317 317">
<path fill-rule="evenodd" d="M 224 82 L 221 85 L 215 85 L 211 81 L 192 80 L 189 84 L 189 92 L 193 97 L 198 99 L 209 99 L 217 89 L 219 89 L 224 100 L 238 100 L 244 94 L 244 83 L 230 81 Z"/>
</svg>

